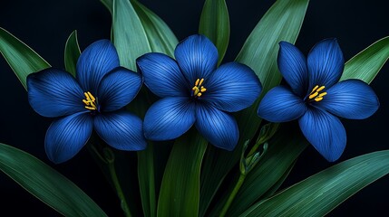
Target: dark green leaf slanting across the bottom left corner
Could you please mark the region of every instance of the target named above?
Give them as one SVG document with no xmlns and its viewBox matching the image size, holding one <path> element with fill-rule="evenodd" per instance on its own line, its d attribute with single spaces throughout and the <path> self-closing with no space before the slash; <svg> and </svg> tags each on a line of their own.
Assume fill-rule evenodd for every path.
<svg viewBox="0 0 389 217">
<path fill-rule="evenodd" d="M 0 143 L 0 170 L 64 216 L 107 216 L 69 179 L 13 146 Z"/>
</svg>

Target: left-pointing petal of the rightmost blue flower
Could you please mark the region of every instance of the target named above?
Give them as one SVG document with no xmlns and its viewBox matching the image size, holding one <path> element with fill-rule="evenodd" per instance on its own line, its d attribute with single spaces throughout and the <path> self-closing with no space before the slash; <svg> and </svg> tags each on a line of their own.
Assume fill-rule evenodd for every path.
<svg viewBox="0 0 389 217">
<path fill-rule="evenodd" d="M 271 122 L 287 122 L 300 118 L 306 112 L 306 103 L 291 90 L 277 86 L 260 101 L 258 116 Z"/>
</svg>

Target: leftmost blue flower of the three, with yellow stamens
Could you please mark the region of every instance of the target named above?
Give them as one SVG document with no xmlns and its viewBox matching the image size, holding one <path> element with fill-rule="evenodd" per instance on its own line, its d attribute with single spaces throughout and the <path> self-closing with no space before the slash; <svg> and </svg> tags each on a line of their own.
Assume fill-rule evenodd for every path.
<svg viewBox="0 0 389 217">
<path fill-rule="evenodd" d="M 31 107 L 44 117 L 57 118 L 44 140 L 49 159 L 58 164 L 75 156 L 92 128 L 112 147 L 144 149 L 141 118 L 119 110 L 141 89 L 141 76 L 119 66 L 116 49 L 108 40 L 87 47 L 76 71 L 77 79 L 53 68 L 27 77 Z"/>
</svg>

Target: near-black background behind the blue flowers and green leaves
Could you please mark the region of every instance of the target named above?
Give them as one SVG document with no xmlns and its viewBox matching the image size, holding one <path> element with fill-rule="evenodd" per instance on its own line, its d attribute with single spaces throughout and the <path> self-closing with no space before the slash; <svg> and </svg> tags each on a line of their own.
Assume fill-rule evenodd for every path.
<svg viewBox="0 0 389 217">
<path fill-rule="evenodd" d="M 239 2 L 239 3 L 238 3 Z M 267 11 L 273 0 L 227 0 L 231 37 L 225 61 L 238 54 L 248 34 Z M 197 33 L 203 1 L 141 0 L 170 25 L 179 40 Z M 326 0 L 312 1 L 306 20 L 297 39 L 297 47 L 304 53 L 322 39 L 336 37 L 349 60 L 371 43 L 389 35 L 388 3 L 384 0 Z M 73 30 L 78 30 L 82 50 L 90 43 L 110 37 L 111 16 L 98 0 L 40 0 L 10 1 L 0 4 L 0 26 L 31 46 L 57 68 L 63 68 L 63 47 Z M 347 131 L 345 153 L 338 161 L 389 148 L 387 84 L 389 64 L 371 83 L 378 95 L 381 108 L 365 120 L 343 120 Z M 83 150 L 62 165 L 53 165 L 44 154 L 44 134 L 51 122 L 30 108 L 27 95 L 13 71 L 0 58 L 0 142 L 21 148 L 52 165 L 89 194 L 110 216 L 121 214 L 118 201 L 105 183 L 91 157 Z M 333 165 L 308 147 L 287 179 L 294 184 L 308 175 Z M 339 205 L 330 216 L 382 215 L 389 201 L 389 176 L 376 181 Z M 2 215 L 57 216 L 51 208 L 26 193 L 6 175 L 0 175 L 0 212 Z"/>
</svg>

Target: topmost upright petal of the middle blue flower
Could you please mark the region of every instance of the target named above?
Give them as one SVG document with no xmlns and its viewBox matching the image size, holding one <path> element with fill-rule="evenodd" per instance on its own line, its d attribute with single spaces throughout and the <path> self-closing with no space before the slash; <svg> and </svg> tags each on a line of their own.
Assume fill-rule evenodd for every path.
<svg viewBox="0 0 389 217">
<path fill-rule="evenodd" d="M 174 56 L 191 85 L 197 79 L 207 79 L 216 69 L 218 49 L 204 35 L 191 35 L 177 45 Z"/>
</svg>

